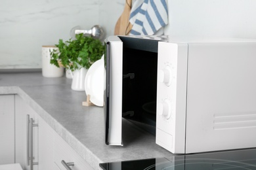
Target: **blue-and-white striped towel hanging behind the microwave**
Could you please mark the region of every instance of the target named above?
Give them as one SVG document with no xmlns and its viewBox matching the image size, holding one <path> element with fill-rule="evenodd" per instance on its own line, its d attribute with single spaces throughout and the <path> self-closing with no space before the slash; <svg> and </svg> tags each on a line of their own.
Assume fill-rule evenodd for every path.
<svg viewBox="0 0 256 170">
<path fill-rule="evenodd" d="M 166 1 L 135 1 L 129 21 L 133 25 L 130 35 L 154 35 L 161 27 L 168 24 Z"/>
</svg>

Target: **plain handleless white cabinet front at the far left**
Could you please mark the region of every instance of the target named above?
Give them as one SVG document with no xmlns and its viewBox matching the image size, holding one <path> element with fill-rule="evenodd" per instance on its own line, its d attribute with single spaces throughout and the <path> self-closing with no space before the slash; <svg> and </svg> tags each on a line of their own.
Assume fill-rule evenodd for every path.
<svg viewBox="0 0 256 170">
<path fill-rule="evenodd" d="M 14 95 L 0 95 L 0 165 L 14 163 Z"/>
</svg>

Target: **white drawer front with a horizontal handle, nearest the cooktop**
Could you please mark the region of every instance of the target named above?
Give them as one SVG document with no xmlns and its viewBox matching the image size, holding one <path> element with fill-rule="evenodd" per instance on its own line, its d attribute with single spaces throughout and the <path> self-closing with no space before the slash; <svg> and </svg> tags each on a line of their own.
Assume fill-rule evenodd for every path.
<svg viewBox="0 0 256 170">
<path fill-rule="evenodd" d="M 81 158 L 59 135 L 55 135 L 54 139 L 54 163 L 61 170 L 67 170 L 61 161 L 66 163 L 74 162 L 74 166 L 70 166 L 72 170 L 92 169 L 90 165 Z"/>
</svg>

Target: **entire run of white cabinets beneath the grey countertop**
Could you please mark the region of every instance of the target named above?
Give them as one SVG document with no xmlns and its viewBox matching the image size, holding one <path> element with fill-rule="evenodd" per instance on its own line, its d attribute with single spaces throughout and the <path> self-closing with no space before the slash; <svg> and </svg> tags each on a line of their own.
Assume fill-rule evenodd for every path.
<svg viewBox="0 0 256 170">
<path fill-rule="evenodd" d="M 92 169 L 19 95 L 0 95 L 0 137 L 0 165 L 20 163 L 24 170 L 66 170 L 65 161 L 74 162 L 72 170 Z"/>
</svg>

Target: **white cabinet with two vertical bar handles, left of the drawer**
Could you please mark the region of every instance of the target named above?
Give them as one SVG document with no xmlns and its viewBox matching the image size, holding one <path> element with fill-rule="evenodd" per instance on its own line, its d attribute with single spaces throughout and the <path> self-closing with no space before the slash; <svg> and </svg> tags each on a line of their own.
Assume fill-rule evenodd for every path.
<svg viewBox="0 0 256 170">
<path fill-rule="evenodd" d="M 54 170 L 54 133 L 53 129 L 18 95 L 15 96 L 16 110 L 16 163 L 20 163 L 22 168 L 29 170 L 28 148 L 33 146 L 34 170 Z M 28 141 L 28 115 L 33 118 L 37 126 L 33 129 L 33 145 Z M 30 124 L 31 125 L 31 124 Z M 29 127 L 31 130 L 31 127 Z M 31 132 L 31 131 L 30 131 Z M 29 132 L 29 133 L 30 133 Z"/>
</svg>

